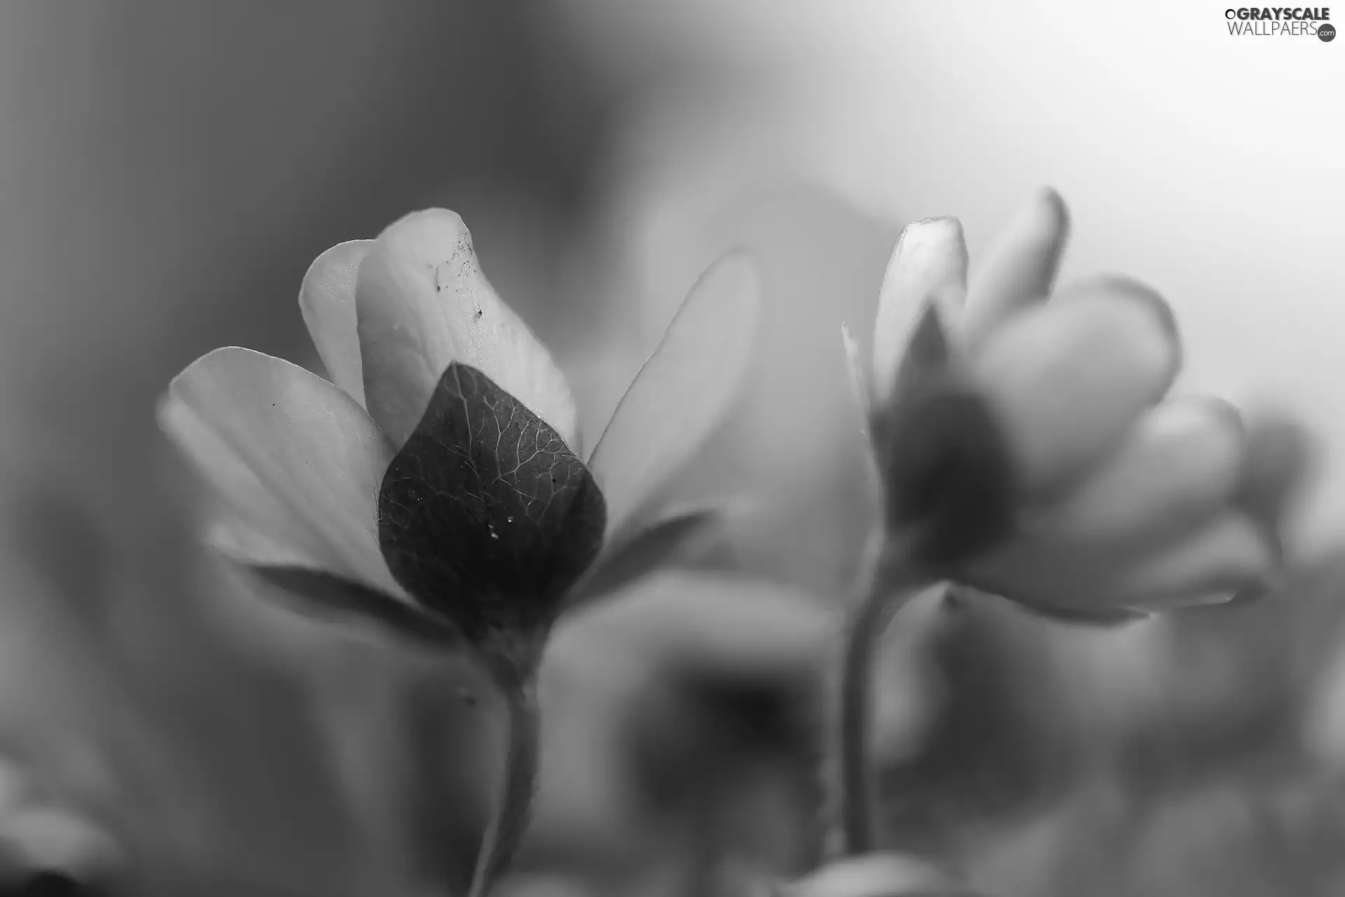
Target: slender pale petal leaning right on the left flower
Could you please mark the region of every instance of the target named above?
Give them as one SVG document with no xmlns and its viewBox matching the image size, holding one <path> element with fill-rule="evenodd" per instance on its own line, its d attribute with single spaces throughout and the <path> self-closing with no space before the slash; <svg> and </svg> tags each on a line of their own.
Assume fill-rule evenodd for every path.
<svg viewBox="0 0 1345 897">
<path fill-rule="evenodd" d="M 752 362 L 761 277 L 742 253 L 701 276 L 635 375 L 589 468 L 617 533 L 660 496 L 738 397 Z"/>
</svg>

